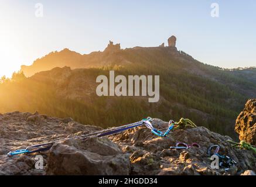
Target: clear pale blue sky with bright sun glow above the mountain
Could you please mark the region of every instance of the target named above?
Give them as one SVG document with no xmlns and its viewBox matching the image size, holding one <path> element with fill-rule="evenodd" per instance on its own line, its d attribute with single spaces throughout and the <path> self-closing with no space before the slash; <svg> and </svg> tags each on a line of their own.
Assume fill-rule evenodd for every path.
<svg viewBox="0 0 256 187">
<path fill-rule="evenodd" d="M 219 4 L 219 18 L 211 4 Z M 43 5 L 36 17 L 35 5 Z M 0 0 L 0 76 L 64 48 L 87 54 L 108 41 L 121 47 L 177 47 L 219 67 L 256 65 L 256 1 L 233 0 Z"/>
</svg>

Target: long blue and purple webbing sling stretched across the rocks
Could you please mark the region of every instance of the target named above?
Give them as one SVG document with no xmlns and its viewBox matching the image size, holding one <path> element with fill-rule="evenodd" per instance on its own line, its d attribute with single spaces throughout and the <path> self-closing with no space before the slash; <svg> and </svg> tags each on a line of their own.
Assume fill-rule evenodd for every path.
<svg viewBox="0 0 256 187">
<path fill-rule="evenodd" d="M 153 119 L 151 117 L 148 117 L 146 119 L 142 119 L 139 122 L 131 123 L 131 124 L 126 124 L 126 125 L 120 126 L 120 127 L 114 127 L 114 128 L 111 128 L 111 129 L 105 129 L 105 130 L 101 130 L 101 131 L 96 131 L 96 132 L 89 133 L 89 134 L 84 134 L 84 135 L 81 135 L 81 136 L 64 138 L 62 140 L 50 141 L 48 143 L 36 144 L 36 145 L 33 145 L 33 146 L 26 147 L 25 149 L 16 150 L 16 151 L 10 151 L 8 153 L 8 156 L 11 157 L 13 155 L 32 154 L 32 153 L 38 153 L 38 152 L 42 152 L 42 151 L 47 151 L 47 150 L 49 150 L 53 146 L 54 143 L 59 143 L 61 141 L 66 141 L 66 140 L 71 140 L 71 139 L 85 140 L 85 139 L 93 137 L 93 136 L 97 136 L 97 137 L 110 136 L 112 134 L 117 134 L 117 133 L 120 133 L 120 132 L 128 130 L 128 129 L 132 129 L 132 128 L 135 128 L 135 127 L 142 126 L 144 124 L 146 126 L 152 126 L 152 124 L 151 124 L 152 120 Z"/>
</svg>

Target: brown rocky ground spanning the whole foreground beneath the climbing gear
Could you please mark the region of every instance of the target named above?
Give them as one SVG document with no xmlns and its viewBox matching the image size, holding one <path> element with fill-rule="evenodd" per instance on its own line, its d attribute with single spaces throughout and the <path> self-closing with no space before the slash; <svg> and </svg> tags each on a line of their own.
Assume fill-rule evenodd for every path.
<svg viewBox="0 0 256 187">
<path fill-rule="evenodd" d="M 240 114 L 237 120 L 243 119 L 244 123 L 237 124 L 236 130 L 240 128 L 244 133 L 245 124 L 250 124 L 250 131 L 255 128 L 255 124 L 252 125 L 256 119 L 255 110 L 252 109 L 256 109 L 255 101 L 247 102 L 244 117 Z M 248 114 L 247 109 L 251 113 Z M 245 122 L 246 119 L 250 122 Z M 160 119 L 154 119 L 152 124 L 158 129 L 168 127 L 168 123 Z M 12 112 L 0 115 L 0 175 L 253 175 L 256 171 L 256 155 L 252 151 L 231 147 L 226 142 L 232 140 L 230 137 L 221 136 L 205 127 L 178 129 L 165 138 L 156 137 L 142 126 L 111 137 L 67 140 L 40 153 L 43 156 L 43 169 L 35 168 L 36 154 L 6 155 L 11 150 L 100 129 L 74 122 L 70 118 L 59 119 L 39 113 Z M 248 136 L 240 134 L 240 138 L 247 140 Z M 187 144 L 196 142 L 201 148 L 171 150 L 169 147 L 175 146 L 178 141 Z M 207 149 L 214 144 L 220 146 L 220 154 L 229 155 L 238 164 L 228 171 L 211 169 Z"/>
</svg>

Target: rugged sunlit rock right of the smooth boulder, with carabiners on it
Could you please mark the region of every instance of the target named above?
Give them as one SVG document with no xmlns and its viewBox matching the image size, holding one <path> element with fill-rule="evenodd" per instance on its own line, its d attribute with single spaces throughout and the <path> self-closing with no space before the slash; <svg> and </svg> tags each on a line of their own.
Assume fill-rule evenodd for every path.
<svg viewBox="0 0 256 187">
<path fill-rule="evenodd" d="M 158 122 L 155 126 L 166 127 L 167 123 Z M 230 137 L 213 133 L 205 127 L 195 129 L 175 130 L 166 138 L 155 137 L 145 127 L 128 130 L 112 140 L 131 159 L 131 174 L 134 175 L 235 175 L 251 168 L 255 171 L 255 155 L 251 151 L 234 149 L 226 142 Z M 200 144 L 201 148 L 187 150 L 171 150 L 176 142 Z M 238 164 L 228 172 L 210 168 L 210 158 L 207 155 L 209 146 L 219 144 L 220 154 L 227 154 Z"/>
</svg>

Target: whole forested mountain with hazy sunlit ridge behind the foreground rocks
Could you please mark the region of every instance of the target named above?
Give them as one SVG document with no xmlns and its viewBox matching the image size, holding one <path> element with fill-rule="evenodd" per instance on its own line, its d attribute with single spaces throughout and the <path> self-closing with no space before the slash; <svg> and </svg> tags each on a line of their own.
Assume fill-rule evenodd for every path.
<svg viewBox="0 0 256 187">
<path fill-rule="evenodd" d="M 71 68 L 43 71 L 56 64 Z M 256 83 L 251 78 L 254 71 L 250 76 L 240 76 L 235 71 L 200 63 L 176 47 L 121 50 L 119 44 L 110 43 L 105 51 L 85 56 L 66 49 L 27 68 L 26 75 L 41 72 L 0 85 L 0 112 L 37 110 L 103 127 L 146 116 L 164 120 L 188 117 L 199 126 L 235 137 L 235 118 L 248 98 L 256 98 Z M 148 103 L 148 97 L 138 96 L 97 96 L 95 79 L 98 75 L 108 76 L 110 70 L 125 76 L 159 75 L 159 102 Z"/>
</svg>

